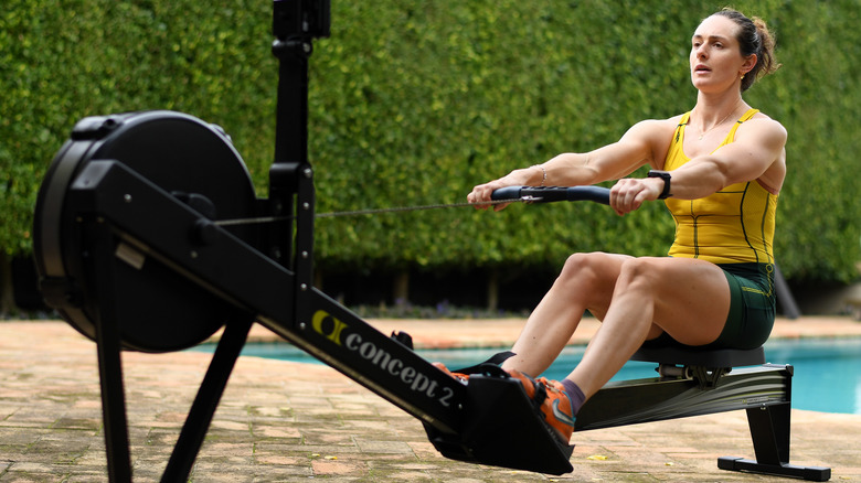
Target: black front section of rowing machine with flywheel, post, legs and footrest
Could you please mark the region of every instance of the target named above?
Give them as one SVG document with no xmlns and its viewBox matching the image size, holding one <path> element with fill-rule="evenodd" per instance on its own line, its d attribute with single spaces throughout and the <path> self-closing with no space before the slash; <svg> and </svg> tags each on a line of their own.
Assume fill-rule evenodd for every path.
<svg viewBox="0 0 861 483">
<path fill-rule="evenodd" d="M 41 290 L 96 342 L 110 480 L 131 479 L 120 352 L 178 351 L 224 328 L 162 475 L 185 481 L 254 321 L 418 418 L 446 457 L 570 472 L 572 447 L 504 373 L 465 386 L 413 352 L 408 335 L 380 333 L 312 287 L 307 74 L 328 22 L 328 1 L 274 2 L 268 198 L 255 197 L 220 128 L 172 111 L 85 118 L 47 171 L 33 229 Z M 237 219 L 249 223 L 225 223 Z"/>
</svg>

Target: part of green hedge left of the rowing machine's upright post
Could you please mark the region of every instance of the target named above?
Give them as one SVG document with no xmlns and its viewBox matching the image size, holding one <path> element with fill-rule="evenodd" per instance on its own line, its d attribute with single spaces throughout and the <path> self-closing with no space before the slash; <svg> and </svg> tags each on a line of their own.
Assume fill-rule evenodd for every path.
<svg viewBox="0 0 861 483">
<path fill-rule="evenodd" d="M 277 78 L 270 7 L 233 3 L 227 9 L 194 1 L 4 2 L 0 170 L 9 178 L 0 183 L 2 249 L 30 249 L 42 176 L 85 116 L 187 111 L 225 127 L 241 151 L 252 152 L 255 176 L 266 175 Z"/>
</svg>

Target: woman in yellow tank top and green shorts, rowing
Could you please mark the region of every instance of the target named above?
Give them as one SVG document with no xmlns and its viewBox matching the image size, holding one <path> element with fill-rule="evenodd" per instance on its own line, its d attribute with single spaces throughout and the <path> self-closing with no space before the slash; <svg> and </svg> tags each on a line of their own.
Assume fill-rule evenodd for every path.
<svg viewBox="0 0 861 483">
<path fill-rule="evenodd" d="M 517 355 L 502 365 L 564 442 L 583 402 L 645 341 L 750 348 L 768 337 L 775 303 L 772 239 L 787 135 L 742 93 L 777 67 L 764 22 L 730 9 L 716 12 L 692 37 L 691 80 L 699 94 L 690 112 L 639 122 L 618 142 L 514 170 L 467 196 L 481 204 L 509 185 L 619 179 L 610 191 L 616 213 L 666 200 L 676 218 L 670 257 L 571 256 L 515 342 Z M 647 178 L 621 179 L 646 164 L 652 169 Z M 603 323 L 577 367 L 562 382 L 529 377 L 556 358 L 585 310 Z"/>
</svg>

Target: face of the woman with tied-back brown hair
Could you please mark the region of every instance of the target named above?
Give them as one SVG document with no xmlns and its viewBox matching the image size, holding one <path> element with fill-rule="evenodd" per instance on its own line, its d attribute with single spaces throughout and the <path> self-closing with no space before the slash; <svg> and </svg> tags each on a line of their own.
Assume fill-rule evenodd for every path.
<svg viewBox="0 0 861 483">
<path fill-rule="evenodd" d="M 722 92 L 740 82 L 756 63 L 756 55 L 742 57 L 736 40 L 738 25 L 712 15 L 703 20 L 691 39 L 691 82 L 701 92 Z"/>
</svg>

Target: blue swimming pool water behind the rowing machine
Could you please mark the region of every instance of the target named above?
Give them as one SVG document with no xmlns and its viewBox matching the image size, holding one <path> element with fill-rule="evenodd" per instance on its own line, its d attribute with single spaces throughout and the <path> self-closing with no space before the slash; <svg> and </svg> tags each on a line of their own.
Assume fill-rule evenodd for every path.
<svg viewBox="0 0 861 483">
<path fill-rule="evenodd" d="M 201 346 L 204 347 L 204 346 Z M 210 346 L 210 350 L 213 346 Z M 585 347 L 566 347 L 543 375 L 551 379 L 565 377 L 580 362 Z M 449 368 L 480 363 L 498 348 L 419 350 L 427 361 L 442 362 Z M 287 343 L 252 343 L 243 355 L 281 361 L 321 364 Z M 773 341 L 765 345 L 766 359 L 791 364 L 793 407 L 822 412 L 861 415 L 861 339 Z M 655 377 L 653 363 L 629 362 L 613 380 Z"/>
</svg>

